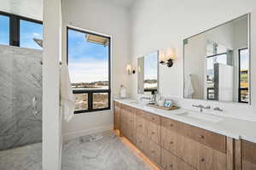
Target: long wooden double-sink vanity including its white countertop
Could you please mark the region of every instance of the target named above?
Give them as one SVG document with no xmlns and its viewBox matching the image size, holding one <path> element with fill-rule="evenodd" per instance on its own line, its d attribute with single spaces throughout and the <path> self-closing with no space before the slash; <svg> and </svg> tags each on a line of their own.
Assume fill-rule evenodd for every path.
<svg viewBox="0 0 256 170">
<path fill-rule="evenodd" d="M 162 169 L 256 169 L 255 141 L 241 139 L 236 130 L 222 129 L 221 123 L 207 125 L 184 118 L 181 113 L 185 110 L 161 111 L 124 99 L 115 100 L 113 105 L 114 128 Z M 231 118 L 226 119 L 222 122 L 227 121 L 230 129 L 234 128 Z M 234 126 L 241 124 L 234 122 Z M 253 125 L 256 132 L 256 123 Z M 253 139 L 253 134 L 248 138 Z"/>
</svg>

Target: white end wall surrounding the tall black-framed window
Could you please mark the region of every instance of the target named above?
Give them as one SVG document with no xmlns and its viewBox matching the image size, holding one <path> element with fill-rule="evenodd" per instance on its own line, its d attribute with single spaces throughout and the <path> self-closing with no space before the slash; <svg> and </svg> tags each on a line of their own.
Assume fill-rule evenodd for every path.
<svg viewBox="0 0 256 170">
<path fill-rule="evenodd" d="M 128 8 L 105 0 L 62 0 L 63 60 L 66 60 L 66 28 L 76 26 L 112 37 L 112 93 L 119 94 L 120 84 L 129 87 L 125 65 L 130 57 L 130 18 Z M 113 127 L 112 111 L 76 115 L 63 122 L 64 138 L 71 138 Z"/>
</svg>

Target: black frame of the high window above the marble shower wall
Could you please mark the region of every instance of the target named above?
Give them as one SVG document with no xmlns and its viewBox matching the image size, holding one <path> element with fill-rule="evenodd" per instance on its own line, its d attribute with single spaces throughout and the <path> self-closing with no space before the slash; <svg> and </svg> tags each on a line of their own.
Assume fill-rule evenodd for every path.
<svg viewBox="0 0 256 170">
<path fill-rule="evenodd" d="M 20 20 L 26 20 L 29 22 L 37 23 L 43 26 L 43 21 L 34 20 L 17 14 L 9 14 L 0 11 L 1 15 L 9 17 L 9 45 L 20 47 Z"/>
</svg>

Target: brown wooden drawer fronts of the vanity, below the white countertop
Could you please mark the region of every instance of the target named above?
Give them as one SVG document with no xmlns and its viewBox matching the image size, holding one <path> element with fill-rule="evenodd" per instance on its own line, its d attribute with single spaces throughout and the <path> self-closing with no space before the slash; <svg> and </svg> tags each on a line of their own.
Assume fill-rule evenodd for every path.
<svg viewBox="0 0 256 170">
<path fill-rule="evenodd" d="M 128 105 L 119 105 L 119 114 L 121 133 L 164 170 L 235 169 L 233 145 L 227 146 L 224 135 Z M 247 150 L 253 150 L 251 144 L 241 143 Z M 256 150 L 253 151 L 244 152 L 245 170 L 256 170 L 252 167 L 256 164 L 255 154 L 252 156 Z"/>
</svg>

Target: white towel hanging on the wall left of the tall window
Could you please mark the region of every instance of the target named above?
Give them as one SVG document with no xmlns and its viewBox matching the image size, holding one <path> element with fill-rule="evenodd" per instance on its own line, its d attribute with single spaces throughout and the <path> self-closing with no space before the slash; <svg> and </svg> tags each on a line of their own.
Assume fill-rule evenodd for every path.
<svg viewBox="0 0 256 170">
<path fill-rule="evenodd" d="M 61 65 L 61 107 L 64 119 L 69 122 L 74 116 L 75 99 L 69 78 L 67 64 Z"/>
</svg>

